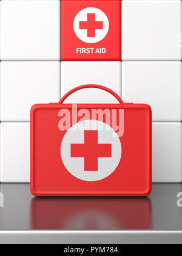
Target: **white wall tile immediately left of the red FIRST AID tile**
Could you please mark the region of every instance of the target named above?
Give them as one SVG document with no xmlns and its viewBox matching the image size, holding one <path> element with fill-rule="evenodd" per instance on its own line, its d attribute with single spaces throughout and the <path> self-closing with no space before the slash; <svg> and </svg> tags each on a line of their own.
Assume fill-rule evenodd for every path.
<svg viewBox="0 0 182 256">
<path fill-rule="evenodd" d="M 60 1 L 1 1 L 1 60 L 59 60 Z"/>
</svg>

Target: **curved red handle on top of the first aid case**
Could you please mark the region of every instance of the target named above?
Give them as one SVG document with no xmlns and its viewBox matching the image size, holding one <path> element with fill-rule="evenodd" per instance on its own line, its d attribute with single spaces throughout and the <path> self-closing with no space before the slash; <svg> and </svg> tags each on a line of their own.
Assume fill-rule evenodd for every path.
<svg viewBox="0 0 182 256">
<path fill-rule="evenodd" d="M 104 91 L 107 91 L 108 93 L 112 94 L 121 104 L 123 104 L 122 99 L 120 98 L 120 96 L 118 96 L 118 94 L 116 94 L 114 91 L 110 90 L 107 87 L 104 87 L 102 85 L 80 85 L 78 87 L 73 88 L 72 90 L 70 90 L 68 93 L 66 93 L 59 101 L 60 104 L 62 104 L 63 101 L 66 100 L 66 98 L 68 96 L 70 96 L 70 94 L 74 93 L 75 91 L 84 89 L 84 88 L 98 88 Z"/>
</svg>

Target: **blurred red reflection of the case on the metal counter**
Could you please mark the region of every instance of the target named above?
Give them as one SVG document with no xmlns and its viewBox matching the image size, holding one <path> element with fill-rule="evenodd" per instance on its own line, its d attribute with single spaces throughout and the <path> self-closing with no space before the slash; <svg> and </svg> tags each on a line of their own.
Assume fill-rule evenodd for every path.
<svg viewBox="0 0 182 256">
<path fill-rule="evenodd" d="M 33 198 L 31 229 L 151 229 L 148 198 Z"/>
</svg>

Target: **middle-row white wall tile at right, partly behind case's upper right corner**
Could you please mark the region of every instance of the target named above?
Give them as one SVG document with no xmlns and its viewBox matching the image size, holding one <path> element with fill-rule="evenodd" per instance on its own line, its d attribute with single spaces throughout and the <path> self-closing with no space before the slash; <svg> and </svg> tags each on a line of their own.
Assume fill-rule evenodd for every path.
<svg viewBox="0 0 182 256">
<path fill-rule="evenodd" d="M 122 99 L 152 107 L 152 121 L 181 121 L 181 62 L 123 62 Z"/>
</svg>

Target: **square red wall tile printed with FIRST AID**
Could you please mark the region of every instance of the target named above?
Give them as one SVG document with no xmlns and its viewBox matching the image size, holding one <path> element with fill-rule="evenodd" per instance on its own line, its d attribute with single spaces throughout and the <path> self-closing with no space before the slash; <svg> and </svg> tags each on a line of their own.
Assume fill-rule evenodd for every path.
<svg viewBox="0 0 182 256">
<path fill-rule="evenodd" d="M 61 60 L 121 60 L 121 1 L 63 0 Z"/>
</svg>

